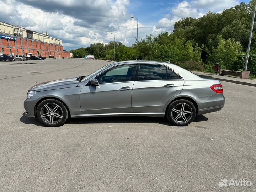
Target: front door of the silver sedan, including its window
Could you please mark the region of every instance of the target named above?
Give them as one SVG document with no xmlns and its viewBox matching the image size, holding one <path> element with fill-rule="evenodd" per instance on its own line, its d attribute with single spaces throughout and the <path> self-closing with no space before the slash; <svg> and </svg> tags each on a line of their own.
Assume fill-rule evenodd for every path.
<svg viewBox="0 0 256 192">
<path fill-rule="evenodd" d="M 134 65 L 113 67 L 96 79 L 99 86 L 85 85 L 80 92 L 82 114 L 131 113 Z"/>
</svg>

